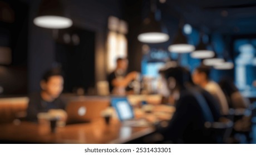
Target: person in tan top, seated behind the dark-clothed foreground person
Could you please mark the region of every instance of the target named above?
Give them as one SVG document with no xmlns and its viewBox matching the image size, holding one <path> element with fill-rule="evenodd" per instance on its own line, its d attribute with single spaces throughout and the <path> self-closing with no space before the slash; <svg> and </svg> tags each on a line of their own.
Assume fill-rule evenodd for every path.
<svg viewBox="0 0 256 155">
<path fill-rule="evenodd" d="M 210 68 L 208 68 L 207 66 L 199 66 L 193 72 L 193 81 L 195 84 L 210 92 L 210 94 L 213 95 L 216 100 L 218 100 L 222 115 L 228 115 L 229 106 L 224 92 L 221 90 L 220 86 L 216 82 L 210 80 L 209 75 Z"/>
</svg>

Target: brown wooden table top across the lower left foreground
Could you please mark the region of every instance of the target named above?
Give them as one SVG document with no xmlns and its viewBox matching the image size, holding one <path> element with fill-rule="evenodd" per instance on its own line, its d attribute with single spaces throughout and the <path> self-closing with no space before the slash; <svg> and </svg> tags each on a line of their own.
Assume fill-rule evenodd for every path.
<svg viewBox="0 0 256 155">
<path fill-rule="evenodd" d="M 103 118 L 76 125 L 58 127 L 51 133 L 47 125 L 21 122 L 0 125 L 0 140 L 25 143 L 125 143 L 154 132 L 154 127 L 124 127 L 112 120 L 106 125 Z"/>
</svg>

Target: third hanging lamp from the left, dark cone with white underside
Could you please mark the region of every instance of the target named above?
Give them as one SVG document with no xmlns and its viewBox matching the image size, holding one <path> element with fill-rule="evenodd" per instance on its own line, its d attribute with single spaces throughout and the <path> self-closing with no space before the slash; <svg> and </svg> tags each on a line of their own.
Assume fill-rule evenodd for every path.
<svg viewBox="0 0 256 155">
<path fill-rule="evenodd" d="M 168 50 L 173 53 L 190 53 L 195 50 L 195 46 L 187 43 L 186 37 L 182 33 L 182 29 L 179 28 L 178 34 L 174 38 L 173 44 L 168 47 Z"/>
</svg>

